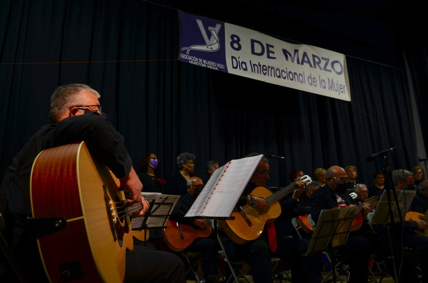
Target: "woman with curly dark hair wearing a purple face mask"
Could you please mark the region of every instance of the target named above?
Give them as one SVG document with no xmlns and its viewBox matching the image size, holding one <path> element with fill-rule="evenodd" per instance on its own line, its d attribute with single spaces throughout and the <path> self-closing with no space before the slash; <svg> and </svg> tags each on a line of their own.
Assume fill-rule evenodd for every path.
<svg viewBox="0 0 428 283">
<path fill-rule="evenodd" d="M 162 192 L 162 186 L 165 185 L 165 180 L 158 177 L 159 174 L 158 155 L 154 152 L 146 153 L 141 157 L 138 165 L 141 183 L 143 183 L 144 192 Z"/>
</svg>

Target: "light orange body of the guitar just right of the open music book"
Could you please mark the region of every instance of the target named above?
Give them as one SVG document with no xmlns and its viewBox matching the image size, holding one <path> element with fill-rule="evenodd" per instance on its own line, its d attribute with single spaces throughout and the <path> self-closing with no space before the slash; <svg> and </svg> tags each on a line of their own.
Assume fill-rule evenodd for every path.
<svg viewBox="0 0 428 283">
<path fill-rule="evenodd" d="M 257 187 L 250 193 L 250 195 L 266 198 L 272 195 L 272 192 L 265 187 Z M 249 221 L 253 224 L 251 227 L 244 219 L 241 212 L 238 211 L 232 213 L 235 220 L 220 220 L 219 222 L 230 239 L 238 244 L 244 245 L 245 243 L 259 238 L 263 232 L 265 224 L 273 222 L 281 214 L 281 206 L 279 205 L 279 202 L 276 201 L 269 207 L 268 212 L 259 215 L 257 210 L 250 205 L 242 206 L 242 209 L 245 211 Z"/>
</svg>

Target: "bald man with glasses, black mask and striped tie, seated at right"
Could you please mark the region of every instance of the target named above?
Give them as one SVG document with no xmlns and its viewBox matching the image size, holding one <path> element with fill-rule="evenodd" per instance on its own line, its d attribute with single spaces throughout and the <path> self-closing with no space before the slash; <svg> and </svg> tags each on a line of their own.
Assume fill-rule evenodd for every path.
<svg viewBox="0 0 428 283">
<path fill-rule="evenodd" d="M 355 206 L 354 201 L 346 193 L 348 175 L 339 166 L 332 166 L 326 172 L 327 186 L 316 190 L 311 197 L 311 216 L 315 223 L 318 222 L 322 209 L 331 209 L 336 206 Z M 363 205 L 365 218 L 370 210 L 368 204 Z M 348 282 L 367 282 L 367 268 L 369 266 L 369 256 L 372 254 L 372 245 L 369 240 L 357 236 L 358 231 L 351 232 L 345 248 L 344 254 L 348 255 L 350 277 Z"/>
</svg>

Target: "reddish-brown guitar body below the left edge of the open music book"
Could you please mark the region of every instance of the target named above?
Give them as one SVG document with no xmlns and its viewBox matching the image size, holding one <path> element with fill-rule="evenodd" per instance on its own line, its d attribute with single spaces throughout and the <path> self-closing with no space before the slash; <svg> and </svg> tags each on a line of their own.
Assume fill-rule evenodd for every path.
<svg viewBox="0 0 428 283">
<path fill-rule="evenodd" d="M 179 225 L 183 239 L 181 239 L 180 230 L 178 229 L 175 221 L 168 220 L 166 228 L 162 230 L 163 239 L 165 239 L 166 245 L 172 251 L 183 251 L 185 248 L 190 246 L 195 239 L 206 238 L 211 235 L 212 231 L 211 225 L 209 225 L 208 230 L 196 229 L 192 225 L 187 224 L 179 223 Z"/>
</svg>

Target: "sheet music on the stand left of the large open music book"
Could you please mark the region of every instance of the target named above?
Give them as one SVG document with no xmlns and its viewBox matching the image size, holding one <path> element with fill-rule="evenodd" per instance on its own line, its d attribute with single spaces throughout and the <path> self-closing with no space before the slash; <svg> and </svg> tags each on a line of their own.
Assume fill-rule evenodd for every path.
<svg viewBox="0 0 428 283">
<path fill-rule="evenodd" d="M 178 198 L 180 198 L 179 195 L 162 195 L 159 192 L 141 192 L 141 196 L 144 197 L 144 199 L 147 200 L 149 203 L 151 203 L 152 200 L 155 200 L 155 203 L 163 202 L 162 204 L 154 204 L 152 208 L 152 215 L 149 216 L 146 222 L 147 227 L 149 228 L 164 226 L 166 221 L 168 221 L 169 216 L 156 217 L 154 215 L 171 214 L 172 209 L 174 209 L 174 206 L 178 201 Z M 131 220 L 131 228 L 140 229 L 143 221 L 144 221 L 144 215 L 142 217 L 133 218 Z"/>
</svg>

